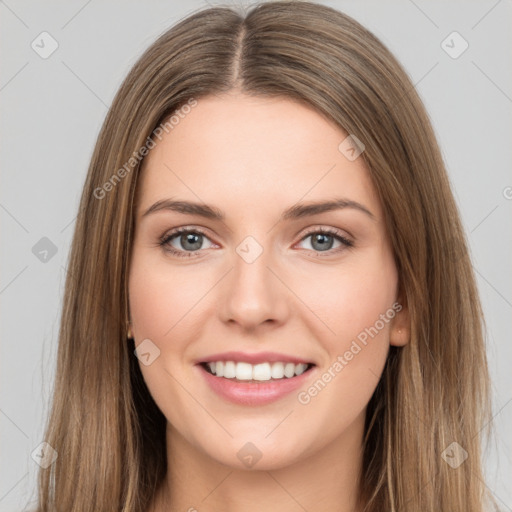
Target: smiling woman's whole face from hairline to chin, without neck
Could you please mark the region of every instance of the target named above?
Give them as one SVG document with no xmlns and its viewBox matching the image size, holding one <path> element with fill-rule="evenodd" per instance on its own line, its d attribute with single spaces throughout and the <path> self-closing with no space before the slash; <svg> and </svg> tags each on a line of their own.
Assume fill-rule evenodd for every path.
<svg viewBox="0 0 512 512">
<path fill-rule="evenodd" d="M 137 191 L 130 319 L 151 395 L 180 442 L 232 467 L 357 444 L 389 345 L 407 338 L 363 158 L 289 99 L 187 112 Z"/>
</svg>

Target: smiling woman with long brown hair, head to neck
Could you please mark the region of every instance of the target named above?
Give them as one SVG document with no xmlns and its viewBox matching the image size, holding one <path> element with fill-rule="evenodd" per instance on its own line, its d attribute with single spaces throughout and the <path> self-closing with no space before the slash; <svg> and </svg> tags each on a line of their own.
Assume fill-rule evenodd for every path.
<svg viewBox="0 0 512 512">
<path fill-rule="evenodd" d="M 459 215 L 413 85 L 348 16 L 163 34 L 99 135 L 69 270 L 40 511 L 485 510 Z"/>
</svg>

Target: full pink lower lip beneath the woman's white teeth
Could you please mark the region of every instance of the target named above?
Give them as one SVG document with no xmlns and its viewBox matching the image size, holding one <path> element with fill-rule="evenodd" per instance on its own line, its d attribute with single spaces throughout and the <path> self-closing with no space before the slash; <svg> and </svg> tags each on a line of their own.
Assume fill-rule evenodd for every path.
<svg viewBox="0 0 512 512">
<path fill-rule="evenodd" d="M 219 396 L 235 404 L 265 405 L 296 391 L 315 370 L 313 366 L 301 375 L 279 380 L 262 382 L 240 382 L 234 379 L 217 377 L 207 372 L 202 365 L 196 365 L 206 382 Z"/>
</svg>

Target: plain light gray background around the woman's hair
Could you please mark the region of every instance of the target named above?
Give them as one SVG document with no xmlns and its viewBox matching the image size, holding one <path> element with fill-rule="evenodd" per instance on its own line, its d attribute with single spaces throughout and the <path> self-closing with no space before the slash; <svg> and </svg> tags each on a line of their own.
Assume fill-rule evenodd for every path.
<svg viewBox="0 0 512 512">
<path fill-rule="evenodd" d="M 353 16 L 388 45 L 431 116 L 488 324 L 496 437 L 487 484 L 503 510 L 512 510 L 512 3 L 320 3 Z M 31 453 L 43 441 L 67 255 L 107 107 L 143 49 L 204 5 L 0 0 L 1 511 L 28 510 L 34 495 Z M 43 31 L 58 43 L 46 59 L 31 47 Z M 458 58 L 442 46 L 453 31 L 469 44 Z M 452 53 L 462 48 L 461 40 L 446 44 Z M 36 245 L 48 244 L 43 237 L 57 250 L 46 261 Z"/>
</svg>

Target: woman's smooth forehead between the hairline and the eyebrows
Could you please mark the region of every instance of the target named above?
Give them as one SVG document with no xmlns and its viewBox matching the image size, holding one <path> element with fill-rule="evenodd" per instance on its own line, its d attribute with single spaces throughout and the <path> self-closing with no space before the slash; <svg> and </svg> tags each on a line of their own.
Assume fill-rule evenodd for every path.
<svg viewBox="0 0 512 512">
<path fill-rule="evenodd" d="M 312 107 L 226 94 L 198 99 L 175 120 L 144 160 L 139 213 L 171 196 L 223 210 L 237 202 L 280 211 L 343 196 L 380 213 L 363 159 L 350 161 L 339 149 L 348 134 Z"/>
</svg>

